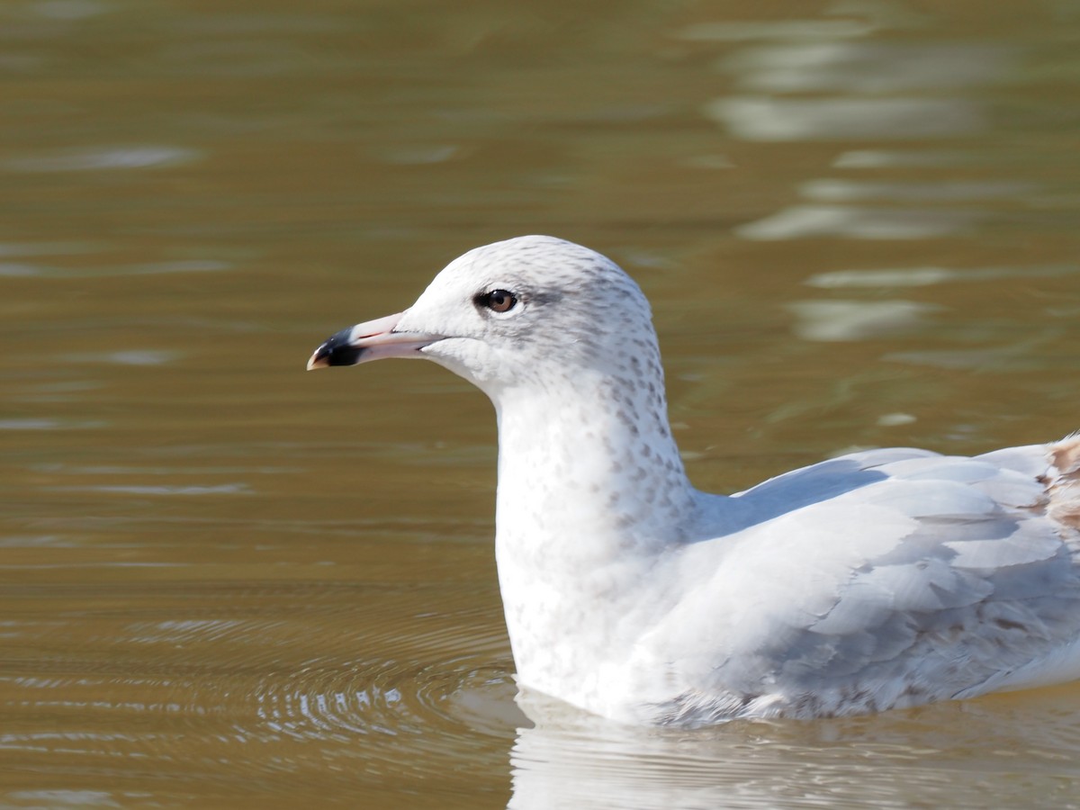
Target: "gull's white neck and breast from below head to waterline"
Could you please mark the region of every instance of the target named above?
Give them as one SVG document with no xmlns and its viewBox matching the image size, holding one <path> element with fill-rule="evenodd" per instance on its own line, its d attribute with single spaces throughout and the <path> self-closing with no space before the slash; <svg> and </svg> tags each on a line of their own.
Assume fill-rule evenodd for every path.
<svg viewBox="0 0 1080 810">
<path fill-rule="evenodd" d="M 499 582 L 518 676 L 541 691 L 624 658 L 620 627 L 667 604 L 651 575 L 697 523 L 662 387 L 645 379 L 576 375 L 497 403 Z"/>
</svg>

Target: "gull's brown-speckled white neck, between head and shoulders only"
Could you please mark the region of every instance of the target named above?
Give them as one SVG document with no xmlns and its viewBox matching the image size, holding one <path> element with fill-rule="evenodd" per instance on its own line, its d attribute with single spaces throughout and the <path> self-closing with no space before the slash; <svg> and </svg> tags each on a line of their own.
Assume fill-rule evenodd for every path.
<svg viewBox="0 0 1080 810">
<path fill-rule="evenodd" d="M 583 558 L 678 541 L 694 491 L 662 387 L 579 375 L 561 388 L 497 404 L 500 536 Z"/>
</svg>

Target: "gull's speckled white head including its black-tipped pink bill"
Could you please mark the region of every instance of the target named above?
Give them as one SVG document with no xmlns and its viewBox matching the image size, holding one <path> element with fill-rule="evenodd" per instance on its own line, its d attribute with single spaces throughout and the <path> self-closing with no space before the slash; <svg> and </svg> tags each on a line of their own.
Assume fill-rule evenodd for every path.
<svg viewBox="0 0 1080 810">
<path fill-rule="evenodd" d="M 625 374 L 634 356 L 654 366 L 656 354 L 648 301 L 613 261 L 554 237 L 518 237 L 455 259 L 404 312 L 338 332 L 308 368 L 427 357 L 495 396 Z"/>
</svg>

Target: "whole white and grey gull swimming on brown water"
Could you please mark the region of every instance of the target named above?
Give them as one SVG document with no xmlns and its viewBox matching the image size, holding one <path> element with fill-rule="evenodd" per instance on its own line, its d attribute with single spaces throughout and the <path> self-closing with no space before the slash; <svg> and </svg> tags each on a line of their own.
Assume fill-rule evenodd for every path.
<svg viewBox="0 0 1080 810">
<path fill-rule="evenodd" d="M 496 559 L 526 687 L 701 726 L 1080 677 L 1080 436 L 866 450 L 698 491 L 648 301 L 552 237 L 470 251 L 308 367 L 380 357 L 433 360 L 495 404 Z"/>
</svg>

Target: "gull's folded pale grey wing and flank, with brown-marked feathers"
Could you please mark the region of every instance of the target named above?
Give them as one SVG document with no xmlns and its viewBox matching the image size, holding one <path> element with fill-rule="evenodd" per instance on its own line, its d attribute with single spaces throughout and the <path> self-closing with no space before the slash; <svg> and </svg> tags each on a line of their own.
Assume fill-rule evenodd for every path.
<svg viewBox="0 0 1080 810">
<path fill-rule="evenodd" d="M 701 582 L 727 642 L 669 629 L 704 653 L 669 711 L 850 714 L 1080 677 L 1080 537 L 1061 519 L 1078 460 L 1076 438 L 975 459 L 872 451 L 743 494 L 761 498 Z M 801 505 L 775 514 L 785 489 Z"/>
</svg>

